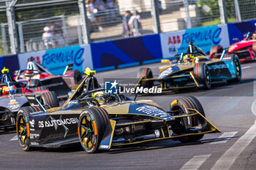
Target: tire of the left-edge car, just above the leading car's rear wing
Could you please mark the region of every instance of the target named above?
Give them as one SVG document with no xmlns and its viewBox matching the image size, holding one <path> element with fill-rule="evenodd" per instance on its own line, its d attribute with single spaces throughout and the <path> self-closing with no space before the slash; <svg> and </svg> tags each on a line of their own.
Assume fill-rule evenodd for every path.
<svg viewBox="0 0 256 170">
<path fill-rule="evenodd" d="M 57 95 L 54 91 L 42 93 L 40 102 L 42 105 L 45 105 L 47 109 L 59 107 L 59 99 L 57 98 Z"/>
</svg>

